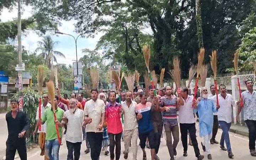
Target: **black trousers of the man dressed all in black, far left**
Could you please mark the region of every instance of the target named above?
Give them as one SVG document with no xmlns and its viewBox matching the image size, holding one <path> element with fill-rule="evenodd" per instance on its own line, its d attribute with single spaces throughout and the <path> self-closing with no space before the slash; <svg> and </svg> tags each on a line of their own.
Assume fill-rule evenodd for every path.
<svg viewBox="0 0 256 160">
<path fill-rule="evenodd" d="M 14 160 L 16 150 L 20 156 L 21 160 L 27 160 L 27 149 L 26 149 L 26 139 L 19 138 L 15 140 L 7 139 L 6 141 L 6 160 Z"/>
</svg>

